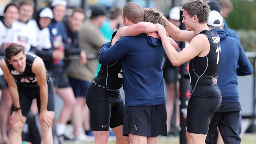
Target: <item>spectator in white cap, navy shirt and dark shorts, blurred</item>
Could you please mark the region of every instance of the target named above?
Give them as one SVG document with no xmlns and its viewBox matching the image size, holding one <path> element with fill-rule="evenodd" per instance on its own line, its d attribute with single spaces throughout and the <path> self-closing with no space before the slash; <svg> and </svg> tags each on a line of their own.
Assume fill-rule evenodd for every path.
<svg viewBox="0 0 256 144">
<path fill-rule="evenodd" d="M 69 80 L 67 79 L 67 76 L 63 76 L 68 67 L 63 59 L 65 56 L 71 55 L 68 54 L 71 47 L 68 43 L 65 26 L 62 23 L 63 17 L 65 16 L 66 6 L 67 2 L 65 0 L 52 1 L 51 8 L 54 18 L 48 26 L 52 44 L 52 53 L 47 55 L 50 59 L 45 59 L 45 66 L 50 76 L 54 79 L 55 92 L 64 102 L 64 106 L 59 114 L 58 124 L 56 125 L 56 132 L 60 140 L 70 140 L 70 138 L 64 135 L 64 132 L 67 121 L 69 120 L 76 103 L 76 98 L 70 87 Z"/>
</svg>

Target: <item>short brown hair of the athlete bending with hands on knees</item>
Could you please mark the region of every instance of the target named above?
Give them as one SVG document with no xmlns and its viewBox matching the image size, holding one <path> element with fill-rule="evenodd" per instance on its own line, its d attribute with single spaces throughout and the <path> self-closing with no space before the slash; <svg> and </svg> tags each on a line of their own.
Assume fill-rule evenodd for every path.
<svg viewBox="0 0 256 144">
<path fill-rule="evenodd" d="M 20 52 L 23 52 L 25 54 L 25 47 L 20 44 L 11 43 L 6 48 L 6 54 L 5 57 L 7 59 L 11 59 L 12 56 L 19 54 Z"/>
</svg>

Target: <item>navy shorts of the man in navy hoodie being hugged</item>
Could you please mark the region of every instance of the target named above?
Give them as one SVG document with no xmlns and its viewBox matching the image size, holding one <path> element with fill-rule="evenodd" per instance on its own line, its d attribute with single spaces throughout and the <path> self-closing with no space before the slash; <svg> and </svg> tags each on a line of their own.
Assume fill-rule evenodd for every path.
<svg viewBox="0 0 256 144">
<path fill-rule="evenodd" d="M 165 104 L 125 107 L 123 135 L 157 137 L 167 135 Z"/>
</svg>

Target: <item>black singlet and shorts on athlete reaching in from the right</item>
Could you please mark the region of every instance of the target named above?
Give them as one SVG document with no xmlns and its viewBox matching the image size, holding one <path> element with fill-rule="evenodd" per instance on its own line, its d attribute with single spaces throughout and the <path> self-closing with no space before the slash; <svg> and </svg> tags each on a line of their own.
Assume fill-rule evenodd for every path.
<svg viewBox="0 0 256 144">
<path fill-rule="evenodd" d="M 220 52 L 216 52 L 216 49 L 220 48 L 220 40 L 213 30 L 203 30 L 199 34 L 208 37 L 210 52 L 204 57 L 196 56 L 189 62 L 192 92 L 187 107 L 187 131 L 206 135 L 211 117 L 219 109 L 222 97 L 217 85 Z"/>
</svg>

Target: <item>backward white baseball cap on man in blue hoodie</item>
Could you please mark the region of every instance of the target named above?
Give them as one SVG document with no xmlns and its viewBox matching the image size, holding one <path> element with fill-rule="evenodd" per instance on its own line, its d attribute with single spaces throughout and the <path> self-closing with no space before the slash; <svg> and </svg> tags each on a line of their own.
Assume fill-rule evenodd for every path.
<svg viewBox="0 0 256 144">
<path fill-rule="evenodd" d="M 208 22 L 207 24 L 209 26 L 213 27 L 220 27 L 222 26 L 223 17 L 221 17 L 221 14 L 217 11 L 211 11 L 209 13 Z"/>
</svg>

